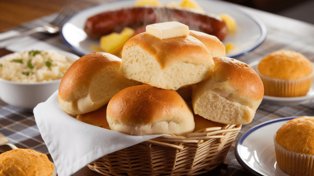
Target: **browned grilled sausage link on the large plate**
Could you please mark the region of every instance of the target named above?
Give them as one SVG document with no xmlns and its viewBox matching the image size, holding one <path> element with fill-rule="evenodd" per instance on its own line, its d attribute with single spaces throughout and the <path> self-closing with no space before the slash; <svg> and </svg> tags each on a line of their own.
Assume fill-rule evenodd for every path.
<svg viewBox="0 0 314 176">
<path fill-rule="evenodd" d="M 136 29 L 154 23 L 177 21 L 189 29 L 215 35 L 220 41 L 228 33 L 225 22 L 209 13 L 167 7 L 130 7 L 106 11 L 87 19 L 84 30 L 93 39 L 112 32 L 121 32 L 124 27 Z"/>
</svg>

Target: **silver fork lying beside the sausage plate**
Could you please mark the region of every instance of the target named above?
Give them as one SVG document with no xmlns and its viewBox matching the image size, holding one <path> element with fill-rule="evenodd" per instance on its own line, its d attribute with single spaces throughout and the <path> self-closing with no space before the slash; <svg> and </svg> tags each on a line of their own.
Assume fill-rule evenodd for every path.
<svg viewBox="0 0 314 176">
<path fill-rule="evenodd" d="M 75 13 L 78 12 L 78 9 L 75 8 L 73 5 L 64 6 L 61 11 L 59 12 L 58 16 L 52 20 L 50 23 L 45 23 L 42 26 L 21 32 L 19 35 L 14 35 L 8 38 L 4 38 L 0 40 L 0 42 L 11 40 L 14 38 L 24 37 L 28 35 L 35 34 L 37 32 L 46 32 L 49 34 L 56 34 L 60 32 L 60 29 L 64 22 L 72 17 Z"/>
</svg>

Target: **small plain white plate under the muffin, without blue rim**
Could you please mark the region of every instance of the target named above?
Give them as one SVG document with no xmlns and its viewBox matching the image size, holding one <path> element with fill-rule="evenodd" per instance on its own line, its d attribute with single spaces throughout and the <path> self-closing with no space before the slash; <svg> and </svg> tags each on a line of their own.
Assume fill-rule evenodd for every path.
<svg viewBox="0 0 314 176">
<path fill-rule="evenodd" d="M 252 67 L 255 71 L 257 69 L 257 64 L 260 61 L 255 61 L 250 64 L 248 64 L 250 67 Z M 312 63 L 314 66 L 314 63 Z M 263 102 L 268 103 L 276 103 L 281 105 L 299 105 L 299 104 L 305 104 L 309 103 L 314 100 L 314 81 L 312 82 L 311 88 L 309 92 L 306 94 L 306 96 L 302 97 L 273 97 L 273 96 L 267 96 L 264 95 Z"/>
</svg>

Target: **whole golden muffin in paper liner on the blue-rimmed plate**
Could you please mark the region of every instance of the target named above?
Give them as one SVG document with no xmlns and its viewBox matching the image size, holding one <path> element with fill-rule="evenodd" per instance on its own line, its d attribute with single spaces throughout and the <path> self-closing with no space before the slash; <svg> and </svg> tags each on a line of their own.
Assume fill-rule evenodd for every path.
<svg viewBox="0 0 314 176">
<path fill-rule="evenodd" d="M 279 168 L 292 176 L 313 176 L 314 117 L 289 120 L 274 136 Z"/>
</svg>

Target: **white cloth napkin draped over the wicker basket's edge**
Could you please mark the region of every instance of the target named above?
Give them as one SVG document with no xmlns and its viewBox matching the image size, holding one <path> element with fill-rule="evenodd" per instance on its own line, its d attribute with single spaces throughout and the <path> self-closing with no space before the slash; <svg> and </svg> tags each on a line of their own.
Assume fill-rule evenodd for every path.
<svg viewBox="0 0 314 176">
<path fill-rule="evenodd" d="M 58 91 L 34 108 L 34 116 L 59 176 L 72 175 L 106 154 L 163 136 L 132 136 L 76 120 L 61 109 Z"/>
</svg>

